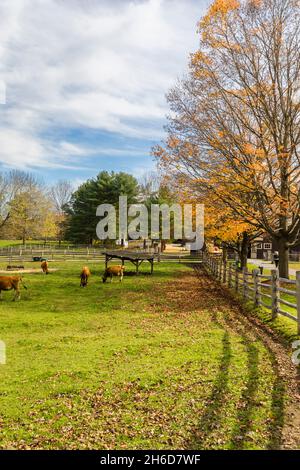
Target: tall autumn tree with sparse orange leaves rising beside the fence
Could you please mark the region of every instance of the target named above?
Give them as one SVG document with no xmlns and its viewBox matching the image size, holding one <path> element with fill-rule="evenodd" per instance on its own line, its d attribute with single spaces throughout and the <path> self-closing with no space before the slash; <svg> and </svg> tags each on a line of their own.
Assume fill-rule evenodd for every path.
<svg viewBox="0 0 300 470">
<path fill-rule="evenodd" d="M 215 0 L 188 77 L 168 95 L 161 165 L 213 192 L 279 246 L 300 241 L 299 0 Z"/>
</svg>

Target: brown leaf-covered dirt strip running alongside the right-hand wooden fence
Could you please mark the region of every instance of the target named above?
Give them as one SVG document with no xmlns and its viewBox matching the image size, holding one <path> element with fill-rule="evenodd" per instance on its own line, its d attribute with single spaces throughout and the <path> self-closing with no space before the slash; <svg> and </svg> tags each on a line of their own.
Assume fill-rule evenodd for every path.
<svg viewBox="0 0 300 470">
<path fill-rule="evenodd" d="M 222 325 L 226 331 L 234 331 L 241 335 L 249 348 L 251 348 L 251 341 L 258 339 L 269 351 L 277 385 L 279 385 L 273 389 L 274 406 L 282 401 L 281 413 L 278 414 L 277 410 L 277 433 L 273 435 L 269 448 L 299 449 L 300 380 L 297 368 L 291 362 L 291 352 L 270 328 L 256 317 L 243 311 L 231 293 L 208 277 L 203 269 L 197 267 L 195 272 L 198 277 L 198 294 L 201 294 L 202 308 L 213 306 L 214 321 Z M 215 315 L 215 310 L 223 312 L 223 315 L 221 317 L 219 314 Z M 253 366 L 254 358 L 252 359 Z M 251 368 L 251 361 L 249 366 Z M 248 392 L 254 396 L 255 380 L 252 381 L 252 385 L 251 383 L 249 385 Z M 281 395 L 278 392 L 280 389 L 285 390 L 285 397 L 284 394 Z"/>
</svg>

